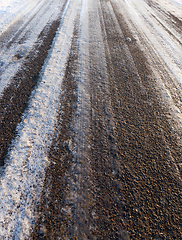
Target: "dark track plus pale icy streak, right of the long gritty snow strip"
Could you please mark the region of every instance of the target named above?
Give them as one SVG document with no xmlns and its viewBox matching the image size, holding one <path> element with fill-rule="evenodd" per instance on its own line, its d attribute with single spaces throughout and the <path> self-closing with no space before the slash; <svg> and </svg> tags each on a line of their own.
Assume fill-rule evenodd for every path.
<svg viewBox="0 0 182 240">
<path fill-rule="evenodd" d="M 62 86 L 60 121 L 50 150 L 54 164 L 47 169 L 44 185 L 50 182 L 49 191 L 44 189 L 33 239 L 95 239 L 85 14 L 87 1 L 82 1 Z"/>
</svg>

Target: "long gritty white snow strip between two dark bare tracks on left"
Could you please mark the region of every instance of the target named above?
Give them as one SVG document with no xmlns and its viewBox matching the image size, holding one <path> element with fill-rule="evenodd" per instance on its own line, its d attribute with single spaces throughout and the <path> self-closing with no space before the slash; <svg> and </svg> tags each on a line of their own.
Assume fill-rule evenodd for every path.
<svg viewBox="0 0 182 240">
<path fill-rule="evenodd" d="M 79 1 L 68 1 L 64 18 L 55 37 L 49 58 L 43 67 L 41 82 L 32 100 L 18 137 L 9 151 L 9 159 L 0 183 L 0 237 L 27 239 L 35 220 L 44 171 L 49 164 L 51 144 L 61 82 L 64 77 Z"/>
</svg>

